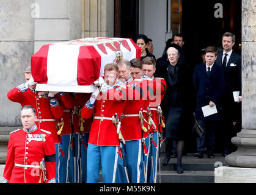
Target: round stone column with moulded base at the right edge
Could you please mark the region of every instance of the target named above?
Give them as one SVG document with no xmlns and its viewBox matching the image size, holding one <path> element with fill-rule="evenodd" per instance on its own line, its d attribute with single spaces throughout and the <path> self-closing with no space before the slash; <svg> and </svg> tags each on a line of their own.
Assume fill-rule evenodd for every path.
<svg viewBox="0 0 256 195">
<path fill-rule="evenodd" d="M 242 130 L 232 143 L 238 149 L 225 157 L 230 166 L 256 168 L 256 1 L 242 1 Z"/>
</svg>

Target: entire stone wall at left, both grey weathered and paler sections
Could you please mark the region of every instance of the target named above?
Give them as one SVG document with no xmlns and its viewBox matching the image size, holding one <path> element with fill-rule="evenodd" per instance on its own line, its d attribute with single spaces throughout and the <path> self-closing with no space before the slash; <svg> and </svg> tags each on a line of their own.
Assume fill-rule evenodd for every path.
<svg viewBox="0 0 256 195">
<path fill-rule="evenodd" d="M 1 0 L 0 126 L 21 126 L 20 104 L 7 93 L 43 44 L 81 38 L 82 0 Z"/>
</svg>

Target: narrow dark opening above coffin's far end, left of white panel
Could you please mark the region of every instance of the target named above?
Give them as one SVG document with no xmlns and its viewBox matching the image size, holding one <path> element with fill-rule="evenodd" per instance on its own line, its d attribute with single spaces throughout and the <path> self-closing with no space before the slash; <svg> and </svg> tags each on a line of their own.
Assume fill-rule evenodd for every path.
<svg viewBox="0 0 256 195">
<path fill-rule="evenodd" d="M 139 31 L 139 1 L 115 0 L 114 37 L 135 38 Z"/>
</svg>

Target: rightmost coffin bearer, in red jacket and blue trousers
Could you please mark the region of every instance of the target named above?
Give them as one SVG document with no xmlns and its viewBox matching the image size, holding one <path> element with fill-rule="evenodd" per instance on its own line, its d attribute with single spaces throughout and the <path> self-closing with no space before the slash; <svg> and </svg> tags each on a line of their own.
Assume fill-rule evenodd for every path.
<svg viewBox="0 0 256 195">
<path fill-rule="evenodd" d="M 157 165 L 159 160 L 159 152 L 161 141 L 163 141 L 164 118 L 160 107 L 163 96 L 166 92 L 166 81 L 163 78 L 155 78 L 156 61 L 152 57 L 146 57 L 142 60 L 142 77 L 148 80 L 148 88 L 153 90 L 153 96 L 148 94 L 147 113 L 148 123 L 150 124 L 149 130 L 149 154 L 147 155 L 148 170 L 147 170 L 147 182 L 156 183 Z M 159 168 L 160 170 L 160 168 Z"/>
</svg>

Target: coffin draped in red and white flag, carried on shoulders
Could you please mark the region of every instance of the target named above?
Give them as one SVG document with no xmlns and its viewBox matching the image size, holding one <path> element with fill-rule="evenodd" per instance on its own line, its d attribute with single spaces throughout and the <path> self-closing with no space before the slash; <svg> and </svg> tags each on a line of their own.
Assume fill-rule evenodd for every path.
<svg viewBox="0 0 256 195">
<path fill-rule="evenodd" d="M 91 93 L 106 64 L 134 58 L 141 58 L 141 48 L 130 38 L 83 38 L 42 46 L 31 71 L 37 91 Z"/>
</svg>

